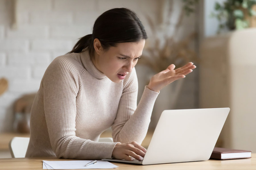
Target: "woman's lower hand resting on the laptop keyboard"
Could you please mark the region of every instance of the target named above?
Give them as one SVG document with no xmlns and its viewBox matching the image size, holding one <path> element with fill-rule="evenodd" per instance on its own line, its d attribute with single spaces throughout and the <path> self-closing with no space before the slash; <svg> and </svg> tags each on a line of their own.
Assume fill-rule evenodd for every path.
<svg viewBox="0 0 256 170">
<path fill-rule="evenodd" d="M 135 158 L 139 161 L 142 161 L 146 151 L 147 150 L 137 142 L 126 144 L 118 143 L 113 149 L 112 157 L 115 159 L 125 159 L 127 161 L 133 161 L 133 158 Z"/>
</svg>

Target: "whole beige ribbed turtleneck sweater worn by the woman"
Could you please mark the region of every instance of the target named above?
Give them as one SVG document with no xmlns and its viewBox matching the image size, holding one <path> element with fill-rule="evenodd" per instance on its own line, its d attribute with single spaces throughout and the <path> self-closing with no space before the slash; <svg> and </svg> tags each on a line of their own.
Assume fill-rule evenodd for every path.
<svg viewBox="0 0 256 170">
<path fill-rule="evenodd" d="M 35 97 L 26 157 L 111 158 L 117 142 L 141 144 L 158 93 L 145 87 L 137 106 L 135 69 L 114 83 L 93 65 L 88 51 L 52 61 Z M 112 127 L 114 143 L 97 142 Z"/>
</svg>

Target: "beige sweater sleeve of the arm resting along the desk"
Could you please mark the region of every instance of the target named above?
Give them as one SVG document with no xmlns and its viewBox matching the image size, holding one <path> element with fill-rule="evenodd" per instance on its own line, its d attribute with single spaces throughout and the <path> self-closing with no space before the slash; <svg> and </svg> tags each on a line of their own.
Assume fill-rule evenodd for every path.
<svg viewBox="0 0 256 170">
<path fill-rule="evenodd" d="M 76 136 L 79 74 L 76 66 L 66 60 L 56 58 L 47 68 L 42 82 L 44 112 L 52 149 L 58 158 L 111 158 L 116 143 L 94 142 Z"/>
</svg>

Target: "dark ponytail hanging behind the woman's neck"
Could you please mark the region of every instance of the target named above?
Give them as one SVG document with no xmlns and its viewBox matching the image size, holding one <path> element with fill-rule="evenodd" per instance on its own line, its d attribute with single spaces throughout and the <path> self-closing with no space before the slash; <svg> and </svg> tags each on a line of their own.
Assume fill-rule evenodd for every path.
<svg viewBox="0 0 256 170">
<path fill-rule="evenodd" d="M 84 37 L 81 37 L 80 40 L 76 42 L 76 45 L 73 47 L 73 49 L 67 54 L 81 53 L 83 51 L 86 51 L 87 49 L 89 49 L 91 53 L 92 47 L 93 47 L 92 37 L 93 37 L 93 34 L 88 34 Z"/>
</svg>

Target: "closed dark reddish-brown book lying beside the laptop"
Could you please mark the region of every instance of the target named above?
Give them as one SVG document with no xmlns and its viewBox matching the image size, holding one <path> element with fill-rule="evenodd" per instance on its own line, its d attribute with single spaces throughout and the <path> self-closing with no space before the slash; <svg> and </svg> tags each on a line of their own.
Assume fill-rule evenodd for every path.
<svg viewBox="0 0 256 170">
<path fill-rule="evenodd" d="M 221 147 L 215 147 L 212 151 L 210 159 L 244 159 L 251 158 L 252 151 L 250 150 L 238 150 L 238 149 L 227 149 Z"/>
</svg>

